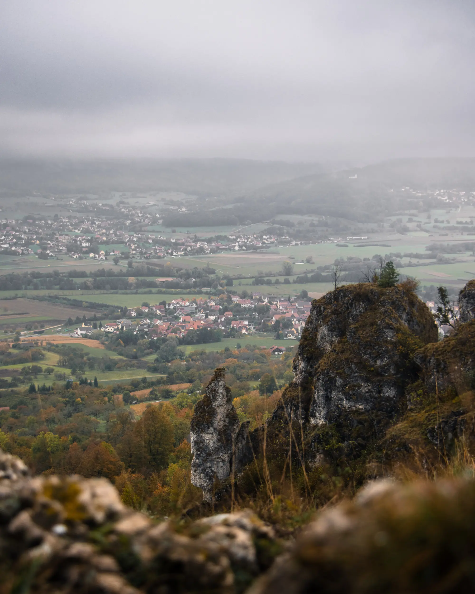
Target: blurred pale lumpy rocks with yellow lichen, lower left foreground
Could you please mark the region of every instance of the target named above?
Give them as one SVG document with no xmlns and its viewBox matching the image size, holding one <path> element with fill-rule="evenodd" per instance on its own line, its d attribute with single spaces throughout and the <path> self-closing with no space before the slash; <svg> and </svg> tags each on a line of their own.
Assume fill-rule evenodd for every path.
<svg viewBox="0 0 475 594">
<path fill-rule="evenodd" d="M 175 529 L 126 507 L 106 479 L 31 478 L 0 450 L 0 593 L 242 592 L 280 551 L 250 511 Z"/>
</svg>

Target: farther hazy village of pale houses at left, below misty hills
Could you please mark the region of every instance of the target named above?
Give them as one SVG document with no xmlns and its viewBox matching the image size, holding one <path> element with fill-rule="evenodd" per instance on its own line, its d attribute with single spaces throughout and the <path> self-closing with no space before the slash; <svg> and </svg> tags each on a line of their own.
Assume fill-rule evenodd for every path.
<svg viewBox="0 0 475 594">
<path fill-rule="evenodd" d="M 56 201 L 54 197 L 50 197 L 50 200 Z M 66 203 L 58 200 L 58 206 L 68 208 L 71 214 L 59 217 L 55 215 L 53 219 L 24 217 L 20 220 L 1 220 L 0 247 L 18 254 L 40 254 L 44 251 L 48 256 L 69 254 L 74 258 L 107 260 L 110 256 L 120 255 L 121 252 L 128 254 L 130 258 L 148 259 L 211 254 L 219 251 L 249 251 L 271 248 L 278 244 L 293 246 L 313 243 L 292 241 L 288 235 L 271 235 L 268 232 L 236 233 L 223 237 L 222 241 L 205 241 L 189 232 L 182 237 L 166 237 L 157 232 L 145 233 L 134 230 L 134 226 L 138 224 L 156 225 L 161 222 L 160 214 L 147 213 L 147 207 L 151 204 L 145 205 L 145 210 L 141 210 L 130 205 L 121 206 L 120 203 L 115 206 L 103 203 L 87 204 L 87 201 L 81 198 L 71 198 Z M 162 207 L 166 210 L 163 205 Z M 102 249 L 92 250 L 92 244 L 98 244 Z M 118 245 L 121 246 L 120 251 L 113 249 Z"/>
</svg>

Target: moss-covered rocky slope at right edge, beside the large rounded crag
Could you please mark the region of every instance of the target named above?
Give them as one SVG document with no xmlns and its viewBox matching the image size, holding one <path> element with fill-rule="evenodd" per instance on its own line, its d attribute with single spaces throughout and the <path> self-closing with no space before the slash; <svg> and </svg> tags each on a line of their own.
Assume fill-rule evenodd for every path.
<svg viewBox="0 0 475 594">
<path fill-rule="evenodd" d="M 429 473 L 448 462 L 457 440 L 469 449 L 475 444 L 475 320 L 422 347 L 414 359 L 419 379 L 406 388 L 408 410 L 381 439 L 375 462 Z"/>
</svg>

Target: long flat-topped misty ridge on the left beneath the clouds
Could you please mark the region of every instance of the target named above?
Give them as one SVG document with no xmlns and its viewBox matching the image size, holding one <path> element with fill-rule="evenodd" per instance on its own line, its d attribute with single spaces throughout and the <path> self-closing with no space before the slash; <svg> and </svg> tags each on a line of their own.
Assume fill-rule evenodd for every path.
<svg viewBox="0 0 475 594">
<path fill-rule="evenodd" d="M 177 191 L 233 196 L 322 170 L 318 163 L 240 159 L 3 159 L 0 192 Z"/>
</svg>

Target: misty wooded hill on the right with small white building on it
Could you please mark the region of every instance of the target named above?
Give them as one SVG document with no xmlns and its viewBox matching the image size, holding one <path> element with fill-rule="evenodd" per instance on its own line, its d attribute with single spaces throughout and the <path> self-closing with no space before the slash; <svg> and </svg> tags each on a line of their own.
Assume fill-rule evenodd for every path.
<svg viewBox="0 0 475 594">
<path fill-rule="evenodd" d="M 167 225 L 256 223 L 277 214 L 315 214 L 358 222 L 376 221 L 400 208 L 414 208 L 402 188 L 466 189 L 475 185 L 475 159 L 397 159 L 363 168 L 321 171 L 263 185 L 234 198 L 227 208 L 204 215 L 170 214 Z M 231 206 L 231 208 L 229 208 Z M 200 223 L 200 221 L 203 221 Z"/>
</svg>

